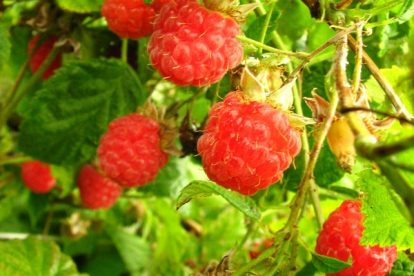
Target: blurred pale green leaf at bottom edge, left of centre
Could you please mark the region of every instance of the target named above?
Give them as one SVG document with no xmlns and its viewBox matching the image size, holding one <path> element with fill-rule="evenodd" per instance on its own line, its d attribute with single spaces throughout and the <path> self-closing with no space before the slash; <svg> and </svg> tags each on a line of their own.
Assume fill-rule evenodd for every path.
<svg viewBox="0 0 414 276">
<path fill-rule="evenodd" d="M 147 267 L 150 260 L 150 244 L 119 226 L 108 225 L 105 230 L 118 249 L 128 270 L 133 275 L 142 275 L 140 273 Z"/>
</svg>

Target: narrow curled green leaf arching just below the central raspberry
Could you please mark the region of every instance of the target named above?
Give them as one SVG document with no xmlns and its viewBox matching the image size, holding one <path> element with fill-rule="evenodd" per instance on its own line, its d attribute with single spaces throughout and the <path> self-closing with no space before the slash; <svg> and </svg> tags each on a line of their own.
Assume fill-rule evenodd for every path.
<svg viewBox="0 0 414 276">
<path fill-rule="evenodd" d="M 259 221 L 260 212 L 256 203 L 250 197 L 225 189 L 211 181 L 193 181 L 182 189 L 177 200 L 177 209 L 194 198 L 208 197 L 213 194 L 222 196 L 247 217 Z"/>
</svg>

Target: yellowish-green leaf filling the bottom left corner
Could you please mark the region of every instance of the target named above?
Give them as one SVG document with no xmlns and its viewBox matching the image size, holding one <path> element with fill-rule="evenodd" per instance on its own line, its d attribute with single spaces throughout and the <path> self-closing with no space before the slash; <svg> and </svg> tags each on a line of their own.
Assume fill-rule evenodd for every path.
<svg viewBox="0 0 414 276">
<path fill-rule="evenodd" d="M 73 260 L 59 247 L 46 240 L 0 242 L 0 269 L 3 276 L 76 276 L 80 275 Z"/>
</svg>

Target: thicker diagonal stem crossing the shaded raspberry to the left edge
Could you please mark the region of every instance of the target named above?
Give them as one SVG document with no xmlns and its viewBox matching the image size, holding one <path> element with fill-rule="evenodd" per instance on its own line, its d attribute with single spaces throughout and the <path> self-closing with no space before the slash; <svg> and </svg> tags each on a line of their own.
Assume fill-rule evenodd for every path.
<svg viewBox="0 0 414 276">
<path fill-rule="evenodd" d="M 14 111 L 18 103 L 26 96 L 33 85 L 35 85 L 41 78 L 43 72 L 47 69 L 47 67 L 50 65 L 50 63 L 53 61 L 53 59 L 56 57 L 56 55 L 59 53 L 60 47 L 55 47 L 53 50 L 49 53 L 47 58 L 43 61 L 42 65 L 40 66 L 39 70 L 36 71 L 35 74 L 29 79 L 29 81 L 26 83 L 22 91 L 20 91 L 19 94 L 16 94 L 10 102 L 7 104 L 7 106 L 4 108 L 1 117 L 0 117 L 0 129 L 3 128 L 3 126 L 6 124 L 9 116 Z"/>
</svg>

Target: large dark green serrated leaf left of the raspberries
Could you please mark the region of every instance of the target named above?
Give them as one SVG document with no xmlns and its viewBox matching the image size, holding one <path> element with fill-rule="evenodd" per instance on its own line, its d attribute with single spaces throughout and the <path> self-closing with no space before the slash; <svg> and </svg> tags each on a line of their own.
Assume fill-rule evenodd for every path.
<svg viewBox="0 0 414 276">
<path fill-rule="evenodd" d="M 19 147 L 46 163 L 88 161 L 109 122 L 132 113 L 143 100 L 136 75 L 125 63 L 70 62 L 38 91 L 21 126 Z"/>
</svg>

